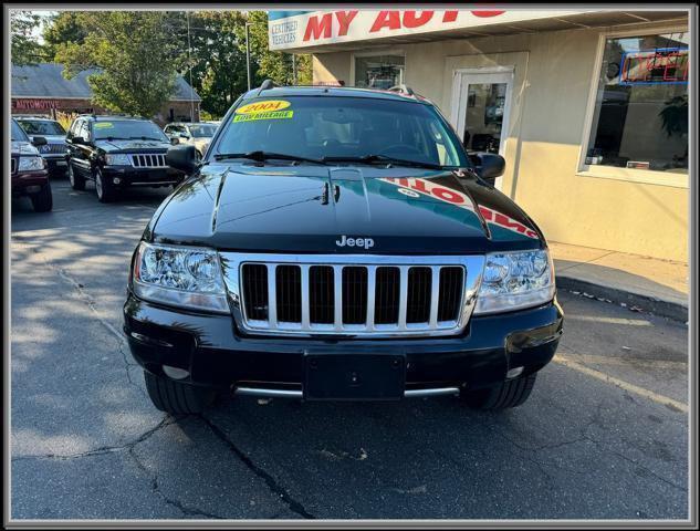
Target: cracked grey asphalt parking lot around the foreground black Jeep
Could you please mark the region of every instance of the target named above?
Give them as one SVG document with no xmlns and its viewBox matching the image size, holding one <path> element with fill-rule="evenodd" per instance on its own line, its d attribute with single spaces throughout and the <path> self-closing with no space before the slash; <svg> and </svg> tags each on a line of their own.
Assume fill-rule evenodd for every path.
<svg viewBox="0 0 700 531">
<path fill-rule="evenodd" d="M 168 190 L 53 179 L 12 202 L 13 519 L 686 519 L 685 323 L 560 293 L 527 403 L 220 399 L 174 418 L 122 335 L 130 253 Z"/>
</svg>

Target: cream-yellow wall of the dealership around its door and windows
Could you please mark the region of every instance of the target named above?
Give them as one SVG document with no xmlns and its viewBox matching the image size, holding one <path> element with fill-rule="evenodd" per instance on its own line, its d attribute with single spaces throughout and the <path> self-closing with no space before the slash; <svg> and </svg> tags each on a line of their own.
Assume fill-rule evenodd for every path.
<svg viewBox="0 0 700 531">
<path fill-rule="evenodd" d="M 654 25 L 624 31 L 649 28 Z M 592 83 L 597 83 L 600 31 L 453 39 L 384 50 L 406 55 L 406 84 L 432 100 L 448 118 L 453 69 L 515 65 L 514 115 L 505 147 L 510 171 L 503 177 L 503 192 L 525 209 L 548 240 L 687 262 L 687 187 L 578 170 L 588 97 Z M 344 80 L 352 85 L 352 63 L 353 52 L 318 53 L 314 82 Z"/>
</svg>

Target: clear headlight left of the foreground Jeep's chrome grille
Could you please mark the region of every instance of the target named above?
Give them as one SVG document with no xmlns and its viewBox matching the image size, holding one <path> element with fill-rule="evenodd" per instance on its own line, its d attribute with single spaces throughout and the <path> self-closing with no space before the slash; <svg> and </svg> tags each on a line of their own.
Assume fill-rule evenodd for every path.
<svg viewBox="0 0 700 531">
<path fill-rule="evenodd" d="M 219 256 L 211 249 L 142 242 L 132 285 L 142 299 L 175 306 L 229 313 Z"/>
</svg>

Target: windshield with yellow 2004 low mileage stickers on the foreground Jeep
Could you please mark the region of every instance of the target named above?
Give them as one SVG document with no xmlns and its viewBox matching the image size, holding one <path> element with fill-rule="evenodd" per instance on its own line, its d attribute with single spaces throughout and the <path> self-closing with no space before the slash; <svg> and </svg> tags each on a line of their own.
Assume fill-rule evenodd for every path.
<svg viewBox="0 0 700 531">
<path fill-rule="evenodd" d="M 257 98 L 224 124 L 216 153 L 262 150 L 320 159 L 380 155 L 447 167 L 469 163 L 430 105 L 369 97 Z"/>
</svg>

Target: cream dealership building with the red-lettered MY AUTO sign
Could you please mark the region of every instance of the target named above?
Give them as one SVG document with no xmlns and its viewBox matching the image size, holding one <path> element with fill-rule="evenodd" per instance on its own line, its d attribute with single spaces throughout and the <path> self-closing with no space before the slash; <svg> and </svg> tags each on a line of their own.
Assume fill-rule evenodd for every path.
<svg viewBox="0 0 700 531">
<path fill-rule="evenodd" d="M 686 11 L 276 11 L 314 83 L 409 85 L 553 241 L 688 260 Z"/>
</svg>

